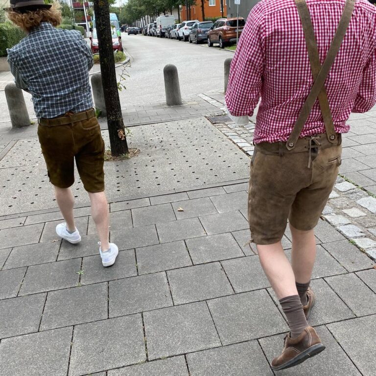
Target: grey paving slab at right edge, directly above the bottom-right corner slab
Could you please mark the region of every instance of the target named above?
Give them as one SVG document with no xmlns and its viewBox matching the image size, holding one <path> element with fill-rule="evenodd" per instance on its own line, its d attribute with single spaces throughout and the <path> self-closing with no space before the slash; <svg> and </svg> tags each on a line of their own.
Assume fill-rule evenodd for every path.
<svg viewBox="0 0 376 376">
<path fill-rule="evenodd" d="M 326 278 L 339 297 L 356 316 L 376 313 L 376 294 L 355 274 Z"/>
</svg>

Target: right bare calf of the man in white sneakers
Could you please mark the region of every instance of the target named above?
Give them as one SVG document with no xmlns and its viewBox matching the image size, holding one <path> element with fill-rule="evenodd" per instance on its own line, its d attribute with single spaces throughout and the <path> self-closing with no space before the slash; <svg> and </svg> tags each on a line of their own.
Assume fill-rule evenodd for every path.
<svg viewBox="0 0 376 376">
<path fill-rule="evenodd" d="M 109 213 L 106 195 L 104 192 L 89 192 L 89 197 L 92 204 L 93 220 L 101 243 L 100 247 L 102 252 L 105 252 L 110 248 L 108 235 Z"/>
</svg>

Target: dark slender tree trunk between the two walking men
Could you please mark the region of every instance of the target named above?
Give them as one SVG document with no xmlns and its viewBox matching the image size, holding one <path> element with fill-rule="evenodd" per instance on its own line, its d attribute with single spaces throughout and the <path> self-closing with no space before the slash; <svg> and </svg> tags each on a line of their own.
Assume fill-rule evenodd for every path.
<svg viewBox="0 0 376 376">
<path fill-rule="evenodd" d="M 128 144 L 121 115 L 108 1 L 94 0 L 94 12 L 111 154 L 117 157 L 128 153 Z"/>
</svg>

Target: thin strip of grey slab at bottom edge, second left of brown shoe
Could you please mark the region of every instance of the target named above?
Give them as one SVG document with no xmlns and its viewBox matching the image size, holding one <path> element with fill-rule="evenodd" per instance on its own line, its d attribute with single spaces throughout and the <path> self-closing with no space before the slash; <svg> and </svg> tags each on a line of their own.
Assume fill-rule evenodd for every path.
<svg viewBox="0 0 376 376">
<path fill-rule="evenodd" d="M 108 376 L 188 376 L 188 370 L 184 356 L 174 356 L 108 371 Z"/>
</svg>

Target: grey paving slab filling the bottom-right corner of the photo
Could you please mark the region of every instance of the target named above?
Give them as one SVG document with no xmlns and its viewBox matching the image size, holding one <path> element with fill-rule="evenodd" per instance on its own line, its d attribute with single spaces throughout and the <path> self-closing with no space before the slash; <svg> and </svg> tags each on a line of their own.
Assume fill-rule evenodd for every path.
<svg viewBox="0 0 376 376">
<path fill-rule="evenodd" d="M 375 375 L 376 315 L 328 325 L 334 338 L 347 352 L 364 376 Z"/>
</svg>

